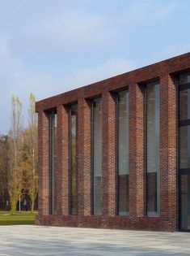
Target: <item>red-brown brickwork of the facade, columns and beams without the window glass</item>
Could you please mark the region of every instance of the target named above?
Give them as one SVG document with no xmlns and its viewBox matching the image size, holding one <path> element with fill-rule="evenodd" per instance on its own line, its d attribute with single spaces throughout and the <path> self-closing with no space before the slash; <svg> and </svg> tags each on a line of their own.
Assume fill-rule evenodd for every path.
<svg viewBox="0 0 190 256">
<path fill-rule="evenodd" d="M 36 103 L 39 113 L 39 215 L 36 224 L 176 231 L 178 76 L 190 54 L 167 59 Z M 146 215 L 145 85 L 160 83 L 160 214 Z M 129 216 L 116 215 L 116 92 L 129 89 Z M 102 98 L 102 215 L 91 215 L 91 101 Z M 69 106 L 78 103 L 78 215 L 69 206 Z M 57 110 L 57 215 L 49 215 L 49 110 Z"/>
</svg>

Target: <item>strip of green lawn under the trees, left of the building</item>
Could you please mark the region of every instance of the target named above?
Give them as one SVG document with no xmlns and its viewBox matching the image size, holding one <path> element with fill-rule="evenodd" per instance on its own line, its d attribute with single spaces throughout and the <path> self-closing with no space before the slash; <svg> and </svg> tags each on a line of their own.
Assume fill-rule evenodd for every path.
<svg viewBox="0 0 190 256">
<path fill-rule="evenodd" d="M 0 225 L 22 225 L 22 224 L 34 224 L 36 213 L 30 211 L 17 211 L 14 215 L 11 215 L 10 211 L 0 211 Z"/>
</svg>

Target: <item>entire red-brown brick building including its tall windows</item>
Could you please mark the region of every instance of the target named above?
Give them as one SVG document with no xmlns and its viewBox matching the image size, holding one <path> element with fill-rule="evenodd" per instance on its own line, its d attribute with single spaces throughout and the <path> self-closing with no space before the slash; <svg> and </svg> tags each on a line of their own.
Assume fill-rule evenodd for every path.
<svg viewBox="0 0 190 256">
<path fill-rule="evenodd" d="M 190 230 L 190 53 L 36 111 L 37 224 Z"/>
</svg>

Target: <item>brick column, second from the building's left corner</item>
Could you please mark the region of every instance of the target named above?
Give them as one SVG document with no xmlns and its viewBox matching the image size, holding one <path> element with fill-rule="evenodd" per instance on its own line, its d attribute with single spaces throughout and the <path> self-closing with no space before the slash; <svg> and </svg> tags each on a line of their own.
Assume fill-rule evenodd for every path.
<svg viewBox="0 0 190 256">
<path fill-rule="evenodd" d="M 57 214 L 69 215 L 69 108 L 57 106 Z"/>
</svg>

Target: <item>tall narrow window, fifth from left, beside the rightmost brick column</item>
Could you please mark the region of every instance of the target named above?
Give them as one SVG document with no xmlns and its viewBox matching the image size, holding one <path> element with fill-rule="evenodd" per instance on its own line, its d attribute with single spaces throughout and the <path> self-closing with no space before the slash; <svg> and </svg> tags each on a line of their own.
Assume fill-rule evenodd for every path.
<svg viewBox="0 0 190 256">
<path fill-rule="evenodd" d="M 160 100 L 159 84 L 146 85 L 146 207 L 147 215 L 160 209 Z"/>
</svg>

